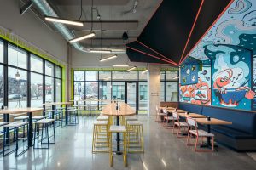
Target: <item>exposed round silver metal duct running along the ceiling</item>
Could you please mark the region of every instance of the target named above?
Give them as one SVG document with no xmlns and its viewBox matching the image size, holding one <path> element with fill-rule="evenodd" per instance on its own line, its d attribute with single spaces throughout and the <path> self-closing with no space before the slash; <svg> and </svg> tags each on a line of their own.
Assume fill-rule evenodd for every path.
<svg viewBox="0 0 256 170">
<path fill-rule="evenodd" d="M 52 16 L 52 17 L 59 17 L 56 13 L 55 10 L 53 8 L 51 8 L 51 6 L 49 5 L 49 3 L 46 0 L 32 0 L 32 3 L 34 5 L 37 6 L 37 8 L 44 14 L 47 16 Z M 53 26 L 55 26 L 55 28 L 57 29 L 57 31 L 60 31 L 61 35 L 67 40 L 67 42 L 73 38 L 75 38 L 75 36 L 73 35 L 72 31 L 70 31 L 67 26 L 61 24 L 61 23 L 53 23 Z M 90 53 L 89 48 L 85 48 L 83 46 L 81 46 L 81 44 L 79 42 L 73 42 L 72 43 L 74 48 L 77 48 L 80 51 L 84 51 L 86 53 Z M 111 49 L 111 53 L 116 53 L 118 52 L 120 53 L 125 53 L 125 49 Z"/>
</svg>

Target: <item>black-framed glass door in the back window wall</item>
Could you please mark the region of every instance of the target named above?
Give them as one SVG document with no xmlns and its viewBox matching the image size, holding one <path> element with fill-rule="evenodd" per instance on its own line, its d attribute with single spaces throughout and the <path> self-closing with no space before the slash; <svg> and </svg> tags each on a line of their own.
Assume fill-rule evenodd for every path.
<svg viewBox="0 0 256 170">
<path fill-rule="evenodd" d="M 138 82 L 125 82 L 125 103 L 130 105 L 137 114 L 138 111 Z"/>
</svg>

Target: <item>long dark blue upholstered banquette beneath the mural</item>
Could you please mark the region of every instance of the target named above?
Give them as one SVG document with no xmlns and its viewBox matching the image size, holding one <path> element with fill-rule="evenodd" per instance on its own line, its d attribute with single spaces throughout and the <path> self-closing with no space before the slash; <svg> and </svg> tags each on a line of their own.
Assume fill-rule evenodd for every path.
<svg viewBox="0 0 256 170">
<path fill-rule="evenodd" d="M 232 122 L 231 125 L 211 126 L 218 143 L 236 151 L 256 150 L 256 112 L 188 103 L 179 103 L 178 108 Z"/>
</svg>

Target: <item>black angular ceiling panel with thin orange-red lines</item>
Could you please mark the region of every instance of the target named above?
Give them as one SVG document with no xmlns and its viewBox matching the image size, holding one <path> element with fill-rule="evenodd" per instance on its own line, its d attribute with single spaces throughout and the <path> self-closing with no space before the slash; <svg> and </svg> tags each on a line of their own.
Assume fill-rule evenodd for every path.
<svg viewBox="0 0 256 170">
<path fill-rule="evenodd" d="M 126 45 L 129 59 L 179 65 L 230 2 L 163 0 L 137 41 Z"/>
</svg>

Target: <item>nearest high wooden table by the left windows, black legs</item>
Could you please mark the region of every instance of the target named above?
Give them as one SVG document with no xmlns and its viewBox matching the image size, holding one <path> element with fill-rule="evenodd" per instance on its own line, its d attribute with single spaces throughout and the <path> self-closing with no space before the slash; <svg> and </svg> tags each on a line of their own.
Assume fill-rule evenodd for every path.
<svg viewBox="0 0 256 170">
<path fill-rule="evenodd" d="M 27 140 L 28 140 L 28 147 L 32 147 L 32 113 L 43 111 L 43 108 L 15 108 L 15 109 L 4 109 L 0 110 L 0 114 L 3 114 L 3 122 L 9 122 L 9 115 L 15 115 L 20 113 L 27 113 L 28 115 L 28 133 L 27 133 Z M 9 143 L 9 129 L 7 130 L 7 138 Z"/>
</svg>

